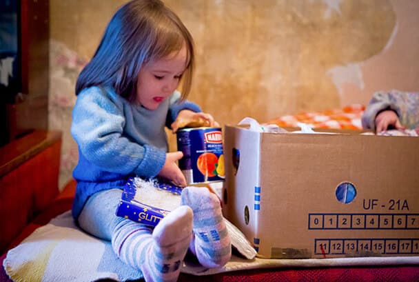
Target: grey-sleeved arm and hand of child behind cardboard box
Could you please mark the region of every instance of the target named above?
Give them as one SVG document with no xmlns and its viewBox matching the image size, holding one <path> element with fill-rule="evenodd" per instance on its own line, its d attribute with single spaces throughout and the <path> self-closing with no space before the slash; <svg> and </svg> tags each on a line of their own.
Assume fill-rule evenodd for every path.
<svg viewBox="0 0 419 282">
<path fill-rule="evenodd" d="M 362 114 L 362 127 L 377 133 L 389 129 L 416 129 L 419 134 L 419 92 L 374 93 Z"/>
</svg>

